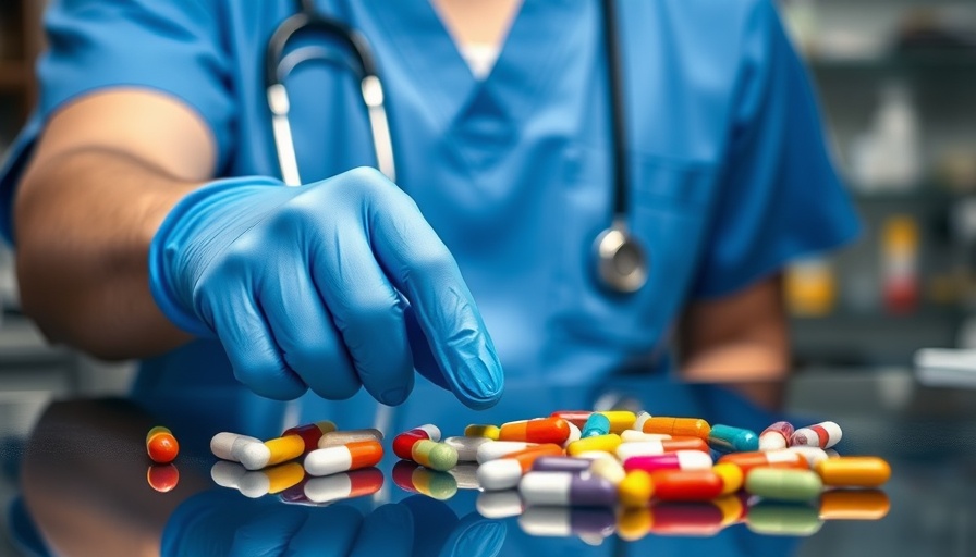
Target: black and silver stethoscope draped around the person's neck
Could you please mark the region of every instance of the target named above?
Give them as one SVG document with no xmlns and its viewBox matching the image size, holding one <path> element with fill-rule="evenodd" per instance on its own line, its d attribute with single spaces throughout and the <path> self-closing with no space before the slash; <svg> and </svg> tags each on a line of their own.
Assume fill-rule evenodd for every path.
<svg viewBox="0 0 976 557">
<path fill-rule="evenodd" d="M 395 182 L 393 141 L 387 111 L 383 107 L 383 87 L 377 74 L 375 58 L 366 37 L 342 22 L 325 16 L 314 5 L 314 0 L 300 0 L 298 13 L 284 20 L 268 41 L 265 59 L 265 82 L 268 107 L 271 110 L 271 129 L 281 176 L 289 186 L 301 185 L 298 163 L 289 124 L 289 97 L 284 78 L 300 63 L 308 60 L 334 61 L 333 52 L 322 47 L 303 46 L 285 53 L 292 37 L 300 32 L 320 33 L 349 47 L 359 77 L 359 92 L 366 104 L 377 168 Z M 613 0 L 602 0 L 603 37 L 610 79 L 610 116 L 613 143 L 613 215 L 610 227 L 594 242 L 596 274 L 602 286 L 618 294 L 631 294 L 647 282 L 650 268 L 639 240 L 626 226 L 630 176 L 626 164 L 626 129 L 624 114 L 623 75 L 620 45 L 617 40 L 617 9 Z"/>
</svg>

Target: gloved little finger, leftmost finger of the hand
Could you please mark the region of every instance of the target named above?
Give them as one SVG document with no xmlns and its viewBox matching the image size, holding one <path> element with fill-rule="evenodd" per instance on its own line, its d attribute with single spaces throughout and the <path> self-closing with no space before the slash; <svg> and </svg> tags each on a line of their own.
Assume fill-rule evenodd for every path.
<svg viewBox="0 0 976 557">
<path fill-rule="evenodd" d="M 254 258 L 257 258 L 254 255 Z M 237 381 L 260 396 L 291 400 L 307 389 L 279 351 L 251 286 L 249 253 L 230 253 L 202 281 L 200 311 L 220 338 Z"/>
</svg>

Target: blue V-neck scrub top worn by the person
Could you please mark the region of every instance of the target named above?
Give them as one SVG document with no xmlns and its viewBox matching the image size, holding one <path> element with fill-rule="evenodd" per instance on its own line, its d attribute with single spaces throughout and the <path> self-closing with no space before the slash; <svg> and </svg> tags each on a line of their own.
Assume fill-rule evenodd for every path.
<svg viewBox="0 0 976 557">
<path fill-rule="evenodd" d="M 542 382 L 666 370 L 688 302 L 735 293 L 857 233 L 808 76 L 770 0 L 619 3 L 627 220 L 651 260 L 647 285 L 632 296 L 608 295 L 594 272 L 593 242 L 612 202 L 596 0 L 526 0 L 480 82 L 428 0 L 318 2 L 373 44 L 398 182 L 457 259 L 504 366 L 505 397 L 530 396 Z M 264 49 L 295 4 L 54 1 L 40 106 L 0 182 L 8 237 L 15 182 L 44 122 L 99 89 L 172 95 L 209 124 L 220 175 L 277 176 Z M 309 62 L 285 83 L 304 182 L 375 163 L 349 71 Z M 282 405 L 225 395 L 229 383 L 220 345 L 198 341 L 145 361 L 135 391 L 160 409 L 196 397 L 202 417 L 277 433 Z M 394 426 L 465 416 L 449 394 L 423 381 L 417 389 Z M 344 403 L 314 398 L 301 419 L 328 412 L 343 426 L 369 425 L 376 406 L 365 392 Z"/>
</svg>

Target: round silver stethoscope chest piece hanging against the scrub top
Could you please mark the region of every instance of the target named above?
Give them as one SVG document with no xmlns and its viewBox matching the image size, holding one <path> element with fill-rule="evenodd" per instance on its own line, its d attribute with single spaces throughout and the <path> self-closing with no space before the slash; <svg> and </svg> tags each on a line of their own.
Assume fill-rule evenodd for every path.
<svg viewBox="0 0 976 557">
<path fill-rule="evenodd" d="M 640 244 L 626 227 L 614 222 L 594 243 L 597 275 L 602 286 L 621 294 L 639 290 L 647 282 L 650 263 Z"/>
</svg>

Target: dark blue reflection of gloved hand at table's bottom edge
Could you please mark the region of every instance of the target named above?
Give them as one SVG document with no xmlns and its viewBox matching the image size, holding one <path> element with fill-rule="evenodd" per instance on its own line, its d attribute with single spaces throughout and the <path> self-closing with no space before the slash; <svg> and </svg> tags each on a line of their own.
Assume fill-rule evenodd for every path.
<svg viewBox="0 0 976 557">
<path fill-rule="evenodd" d="M 173 511 L 160 555 L 497 557 L 505 543 L 503 522 L 475 511 L 459 519 L 442 502 L 424 495 L 365 516 L 354 503 L 312 507 L 209 490 Z"/>
</svg>

